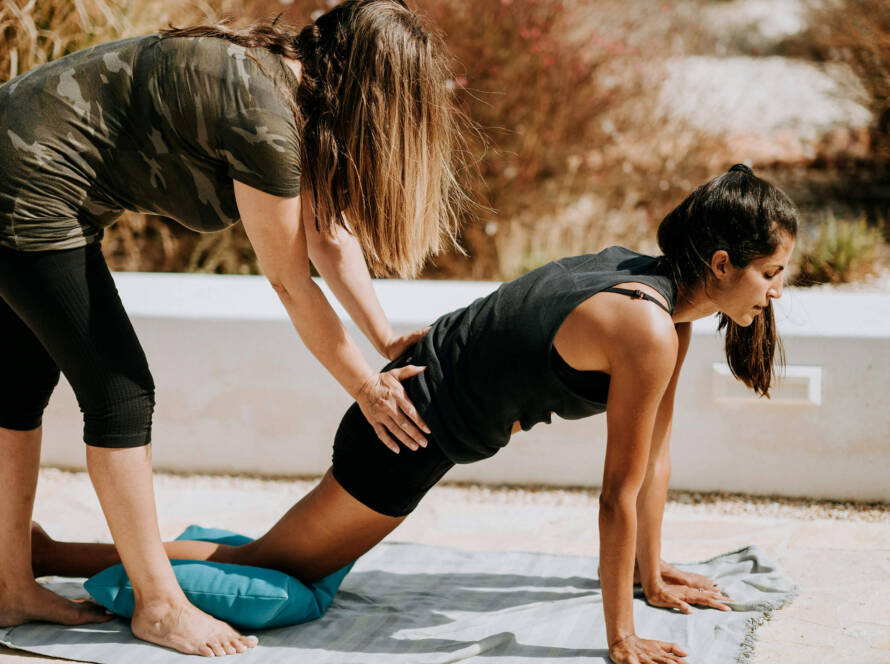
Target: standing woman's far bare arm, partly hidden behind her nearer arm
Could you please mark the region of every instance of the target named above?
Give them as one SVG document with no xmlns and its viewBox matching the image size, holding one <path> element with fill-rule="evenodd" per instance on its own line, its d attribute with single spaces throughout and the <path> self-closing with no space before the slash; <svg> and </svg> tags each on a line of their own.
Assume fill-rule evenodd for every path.
<svg viewBox="0 0 890 664">
<path fill-rule="evenodd" d="M 416 343 L 428 328 L 408 335 L 393 332 L 371 285 L 371 275 L 358 240 L 342 226 L 335 226 L 327 235 L 320 233 L 315 227 L 311 198 L 304 199 L 303 228 L 309 259 L 377 352 L 394 360 Z"/>
</svg>

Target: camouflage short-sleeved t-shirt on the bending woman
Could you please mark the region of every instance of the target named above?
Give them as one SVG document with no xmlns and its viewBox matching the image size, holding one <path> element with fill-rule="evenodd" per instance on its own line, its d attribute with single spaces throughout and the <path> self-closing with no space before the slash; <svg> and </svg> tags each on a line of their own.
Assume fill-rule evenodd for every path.
<svg viewBox="0 0 890 664">
<path fill-rule="evenodd" d="M 134 37 L 0 86 L 0 245 L 68 249 L 124 210 L 198 231 L 239 219 L 232 180 L 300 193 L 283 60 L 213 37 Z M 282 89 L 283 88 L 283 89 Z"/>
</svg>

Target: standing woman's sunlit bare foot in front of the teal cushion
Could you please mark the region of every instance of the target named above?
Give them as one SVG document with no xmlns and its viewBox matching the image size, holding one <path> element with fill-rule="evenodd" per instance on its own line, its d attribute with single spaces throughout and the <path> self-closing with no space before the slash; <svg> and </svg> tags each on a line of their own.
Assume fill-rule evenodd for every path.
<svg viewBox="0 0 890 664">
<path fill-rule="evenodd" d="M 205 657 L 234 655 L 257 645 L 255 636 L 241 636 L 226 623 L 188 602 L 154 604 L 137 610 L 131 623 L 133 635 L 143 641 Z"/>
</svg>

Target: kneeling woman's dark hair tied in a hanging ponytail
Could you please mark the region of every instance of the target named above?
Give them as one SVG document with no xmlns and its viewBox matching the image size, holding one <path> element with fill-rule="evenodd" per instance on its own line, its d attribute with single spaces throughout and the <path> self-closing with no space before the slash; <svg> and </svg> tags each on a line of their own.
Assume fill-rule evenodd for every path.
<svg viewBox="0 0 890 664">
<path fill-rule="evenodd" d="M 658 227 L 662 268 L 680 292 L 711 277 L 711 257 L 723 250 L 736 268 L 769 256 L 783 235 L 797 236 L 797 210 L 779 188 L 744 164 L 707 182 L 674 208 Z M 784 364 L 772 304 L 742 326 L 720 314 L 726 360 L 732 374 L 757 394 L 769 396 L 773 369 Z"/>
</svg>

